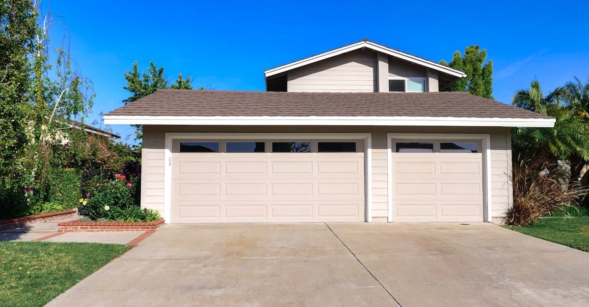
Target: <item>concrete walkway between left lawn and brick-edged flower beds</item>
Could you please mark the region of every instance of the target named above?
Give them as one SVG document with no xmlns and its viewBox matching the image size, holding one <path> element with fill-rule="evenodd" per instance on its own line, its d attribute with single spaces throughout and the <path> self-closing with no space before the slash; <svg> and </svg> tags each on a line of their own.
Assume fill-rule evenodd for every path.
<svg viewBox="0 0 589 307">
<path fill-rule="evenodd" d="M 43 242 L 95 242 L 127 244 L 140 236 L 143 231 L 127 232 L 58 232 L 59 222 L 72 218 L 55 218 L 51 221 L 32 223 L 28 226 L 0 230 L 0 241 L 43 241 Z"/>
</svg>

